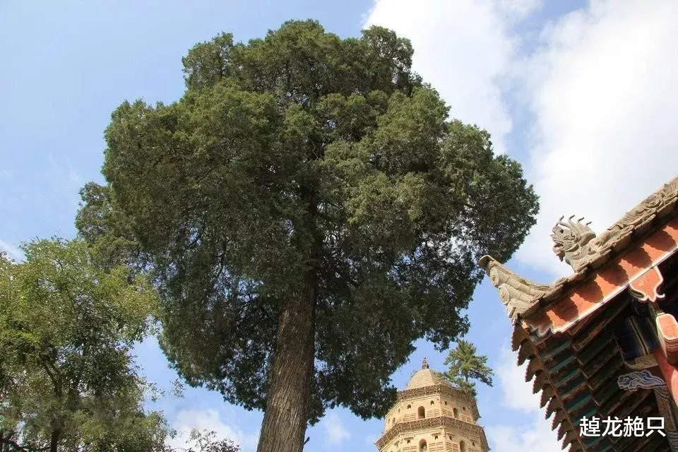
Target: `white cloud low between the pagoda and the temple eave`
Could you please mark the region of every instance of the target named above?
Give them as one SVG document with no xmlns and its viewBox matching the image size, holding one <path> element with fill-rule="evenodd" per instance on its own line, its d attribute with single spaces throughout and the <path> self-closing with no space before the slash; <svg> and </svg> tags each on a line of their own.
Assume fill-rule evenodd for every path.
<svg viewBox="0 0 678 452">
<path fill-rule="evenodd" d="M 559 452 L 560 441 L 551 430 L 551 421 L 545 420 L 539 407 L 540 396 L 532 393 L 532 383 L 525 382 L 525 367 L 516 366 L 516 354 L 509 347 L 501 348 L 501 359 L 496 365 L 496 380 L 502 393 L 502 405 L 528 413 L 530 422 L 516 426 L 494 424 L 485 427 L 488 441 L 502 452 Z"/>
</svg>

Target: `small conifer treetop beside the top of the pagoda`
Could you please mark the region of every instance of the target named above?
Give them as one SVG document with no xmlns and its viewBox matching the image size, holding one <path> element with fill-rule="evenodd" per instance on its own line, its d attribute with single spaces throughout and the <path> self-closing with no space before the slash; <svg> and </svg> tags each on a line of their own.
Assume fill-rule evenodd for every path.
<svg viewBox="0 0 678 452">
<path fill-rule="evenodd" d="M 487 356 L 476 355 L 475 345 L 460 339 L 457 346 L 450 350 L 444 364 L 447 371 L 442 376 L 458 388 L 475 396 L 475 381 L 492 386 L 492 369 L 487 367 Z"/>
</svg>

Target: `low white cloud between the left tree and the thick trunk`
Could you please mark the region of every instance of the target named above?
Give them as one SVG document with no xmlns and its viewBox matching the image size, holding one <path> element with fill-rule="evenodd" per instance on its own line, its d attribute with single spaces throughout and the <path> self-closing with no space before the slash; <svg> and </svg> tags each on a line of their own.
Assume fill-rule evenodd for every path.
<svg viewBox="0 0 678 452">
<path fill-rule="evenodd" d="M 189 436 L 194 429 L 215 432 L 218 440 L 230 439 L 240 445 L 242 452 L 254 452 L 258 441 L 258 434 L 246 433 L 227 424 L 216 410 L 181 410 L 172 427 L 177 430 L 177 436 L 167 443 L 174 448 L 190 447 Z"/>
</svg>

